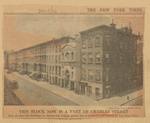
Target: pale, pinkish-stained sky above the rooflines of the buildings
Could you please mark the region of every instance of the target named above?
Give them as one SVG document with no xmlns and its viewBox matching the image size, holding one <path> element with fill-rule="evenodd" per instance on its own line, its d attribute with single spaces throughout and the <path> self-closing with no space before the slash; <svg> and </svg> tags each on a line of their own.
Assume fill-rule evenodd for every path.
<svg viewBox="0 0 150 123">
<path fill-rule="evenodd" d="M 144 18 L 133 16 L 102 15 L 3 15 L 3 49 L 20 49 L 49 41 L 53 38 L 71 36 L 80 31 L 109 25 L 114 19 L 117 28 L 131 27 L 134 34 L 144 31 Z"/>
</svg>

